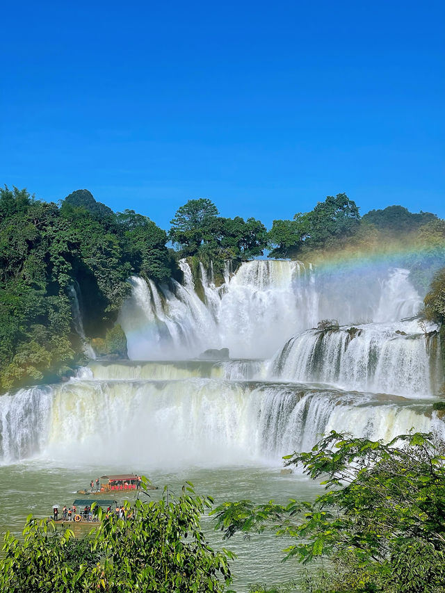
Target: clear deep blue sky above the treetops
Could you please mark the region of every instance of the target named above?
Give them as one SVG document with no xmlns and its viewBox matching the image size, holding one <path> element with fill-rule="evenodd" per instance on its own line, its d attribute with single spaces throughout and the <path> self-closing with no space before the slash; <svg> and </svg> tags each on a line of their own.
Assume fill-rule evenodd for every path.
<svg viewBox="0 0 445 593">
<path fill-rule="evenodd" d="M 346 192 L 445 217 L 445 2 L 3 3 L 0 183 L 162 227 Z"/>
</svg>

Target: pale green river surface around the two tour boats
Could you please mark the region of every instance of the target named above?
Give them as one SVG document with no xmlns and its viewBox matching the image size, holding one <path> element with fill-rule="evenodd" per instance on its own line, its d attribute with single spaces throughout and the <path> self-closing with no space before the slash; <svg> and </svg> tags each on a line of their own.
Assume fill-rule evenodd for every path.
<svg viewBox="0 0 445 593">
<path fill-rule="evenodd" d="M 114 452 L 116 453 L 116 452 Z M 111 458 L 113 451 L 111 451 Z M 150 471 L 149 468 L 108 464 L 95 466 L 83 462 L 73 462 L 69 467 L 58 466 L 51 460 L 17 463 L 0 469 L 0 529 L 2 533 L 10 530 L 19 535 L 26 515 L 35 517 L 51 516 L 52 505 L 70 505 L 74 498 L 86 498 L 76 494 L 78 489 L 88 486 L 92 478 L 106 473 L 127 473 L 140 471 L 159 485 L 159 490 L 150 491 L 152 500 L 162 496 L 162 488 L 168 485 L 172 492 L 179 494 L 185 481 L 193 482 L 195 491 L 215 499 L 216 504 L 229 500 L 250 498 L 257 503 L 265 503 L 272 498 L 285 503 L 289 498 L 313 499 L 321 488 L 305 476 L 292 474 L 282 476 L 280 466 L 233 466 L 218 469 L 188 467 L 174 472 Z M 92 500 L 95 497 L 90 496 Z M 110 496 L 109 498 L 113 498 Z M 124 501 L 122 496 L 119 502 Z M 134 496 L 127 497 L 129 501 Z M 243 593 L 252 583 L 273 585 L 284 580 L 296 578 L 298 567 L 295 560 L 281 562 L 284 558 L 285 539 L 272 533 L 252 535 L 244 539 L 236 535 L 224 541 L 222 534 L 213 531 L 213 519 L 204 518 L 204 529 L 215 549 L 225 547 L 234 551 L 237 560 L 231 562 L 234 574 L 234 589 Z"/>
</svg>

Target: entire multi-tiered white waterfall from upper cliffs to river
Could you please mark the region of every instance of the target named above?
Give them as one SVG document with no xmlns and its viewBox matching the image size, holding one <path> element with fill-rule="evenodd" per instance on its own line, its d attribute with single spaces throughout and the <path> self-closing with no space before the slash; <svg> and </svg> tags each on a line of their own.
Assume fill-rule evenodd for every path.
<svg viewBox="0 0 445 593">
<path fill-rule="evenodd" d="M 400 320 L 421 304 L 407 270 L 227 262 L 216 286 L 212 267 L 194 279 L 179 266 L 181 284 L 130 279 L 119 321 L 132 360 L 91 361 L 65 384 L 0 398 L 3 463 L 106 463 L 113 451 L 131 466 L 277 464 L 332 429 L 385 440 L 442 430 L 435 327 Z M 343 325 L 310 329 L 323 318 Z M 197 359 L 207 348 L 232 358 Z"/>
</svg>

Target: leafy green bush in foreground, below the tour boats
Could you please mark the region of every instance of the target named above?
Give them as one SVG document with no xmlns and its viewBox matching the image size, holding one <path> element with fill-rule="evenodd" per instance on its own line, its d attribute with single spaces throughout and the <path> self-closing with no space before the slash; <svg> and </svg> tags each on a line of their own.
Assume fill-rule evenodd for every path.
<svg viewBox="0 0 445 593">
<path fill-rule="evenodd" d="M 6 533 L 1 591 L 223 592 L 232 580 L 228 560 L 234 556 L 209 546 L 200 518 L 213 501 L 196 496 L 191 486 L 177 498 L 165 489 L 159 502 L 125 503 L 127 520 L 95 508 L 101 523 L 81 540 L 70 529 L 60 533 L 53 521 L 29 515 L 23 540 Z"/>
</svg>

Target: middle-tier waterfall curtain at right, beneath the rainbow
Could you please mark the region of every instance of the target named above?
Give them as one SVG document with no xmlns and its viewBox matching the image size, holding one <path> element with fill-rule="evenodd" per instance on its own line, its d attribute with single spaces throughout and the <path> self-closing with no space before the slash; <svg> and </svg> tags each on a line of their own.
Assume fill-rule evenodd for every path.
<svg viewBox="0 0 445 593">
<path fill-rule="evenodd" d="M 307 330 L 277 353 L 270 375 L 342 389 L 431 396 L 439 388 L 441 374 L 438 357 L 430 357 L 432 346 L 439 348 L 437 332 L 419 334 L 415 320 Z"/>
</svg>

